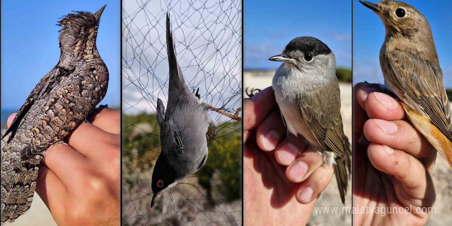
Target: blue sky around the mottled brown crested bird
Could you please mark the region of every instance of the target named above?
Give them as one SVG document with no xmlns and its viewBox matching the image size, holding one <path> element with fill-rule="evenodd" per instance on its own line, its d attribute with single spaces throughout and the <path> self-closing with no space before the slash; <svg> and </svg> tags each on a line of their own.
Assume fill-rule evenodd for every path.
<svg viewBox="0 0 452 226">
<path fill-rule="evenodd" d="M 110 81 L 105 99 L 120 103 L 120 1 L 2 1 L 2 109 L 18 109 L 34 86 L 58 63 L 60 48 L 56 26 L 71 11 L 96 12 L 101 17 L 97 47 L 108 67 Z"/>
</svg>

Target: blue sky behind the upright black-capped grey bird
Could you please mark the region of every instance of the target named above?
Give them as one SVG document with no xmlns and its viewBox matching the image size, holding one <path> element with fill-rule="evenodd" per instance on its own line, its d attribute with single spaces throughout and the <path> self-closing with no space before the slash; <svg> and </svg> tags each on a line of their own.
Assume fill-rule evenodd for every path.
<svg viewBox="0 0 452 226">
<path fill-rule="evenodd" d="M 313 36 L 336 55 L 337 66 L 351 68 L 351 2 L 245 0 L 244 68 L 277 68 L 268 61 L 295 37 Z"/>
</svg>

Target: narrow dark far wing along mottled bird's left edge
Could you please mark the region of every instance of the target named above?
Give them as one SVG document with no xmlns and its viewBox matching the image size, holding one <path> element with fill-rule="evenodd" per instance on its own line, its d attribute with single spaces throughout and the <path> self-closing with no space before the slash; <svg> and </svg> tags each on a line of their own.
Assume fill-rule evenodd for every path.
<svg viewBox="0 0 452 226">
<path fill-rule="evenodd" d="M 17 115 L 14 117 L 11 126 L 6 130 L 2 139 L 5 138 L 8 134 L 11 133 L 8 141 L 11 141 L 14 137 L 15 131 L 22 119 L 24 119 L 25 115 L 27 115 L 28 110 L 30 110 L 31 106 L 35 103 L 35 101 L 39 100 L 45 93 L 48 93 L 56 83 L 58 83 L 59 77 L 62 76 L 62 72 L 60 68 L 53 68 L 49 73 L 47 73 L 39 83 L 34 87 L 31 91 L 28 98 L 25 100 L 25 103 L 22 107 L 17 111 Z"/>
</svg>

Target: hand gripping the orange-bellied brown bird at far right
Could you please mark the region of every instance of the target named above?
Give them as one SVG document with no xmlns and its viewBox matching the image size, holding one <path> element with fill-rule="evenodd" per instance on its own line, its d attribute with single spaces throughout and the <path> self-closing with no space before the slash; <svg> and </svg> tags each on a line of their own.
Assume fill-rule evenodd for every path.
<svg viewBox="0 0 452 226">
<path fill-rule="evenodd" d="M 436 199 L 435 148 L 379 84 L 356 84 L 353 94 L 354 225 L 424 225 Z"/>
</svg>

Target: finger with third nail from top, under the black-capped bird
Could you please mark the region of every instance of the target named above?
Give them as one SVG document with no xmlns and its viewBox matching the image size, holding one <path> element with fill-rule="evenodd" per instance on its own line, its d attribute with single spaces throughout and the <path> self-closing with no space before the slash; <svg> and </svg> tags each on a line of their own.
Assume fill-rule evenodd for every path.
<svg viewBox="0 0 452 226">
<path fill-rule="evenodd" d="M 287 178 L 295 183 L 306 180 L 323 163 L 323 156 L 309 147 L 286 168 Z"/>
</svg>

